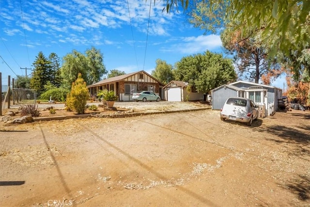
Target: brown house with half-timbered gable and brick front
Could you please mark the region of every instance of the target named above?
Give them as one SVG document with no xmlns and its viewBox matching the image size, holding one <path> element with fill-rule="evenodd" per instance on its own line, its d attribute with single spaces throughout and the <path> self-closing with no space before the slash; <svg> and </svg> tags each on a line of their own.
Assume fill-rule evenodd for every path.
<svg viewBox="0 0 310 207">
<path fill-rule="evenodd" d="M 119 101 L 132 101 L 132 94 L 138 91 L 152 91 L 161 99 L 164 99 L 163 86 L 159 80 L 145 72 L 144 70 L 128 73 L 121 76 L 101 80 L 87 88 L 91 96 L 96 96 L 99 90 L 107 89 L 114 91 L 119 97 Z"/>
</svg>

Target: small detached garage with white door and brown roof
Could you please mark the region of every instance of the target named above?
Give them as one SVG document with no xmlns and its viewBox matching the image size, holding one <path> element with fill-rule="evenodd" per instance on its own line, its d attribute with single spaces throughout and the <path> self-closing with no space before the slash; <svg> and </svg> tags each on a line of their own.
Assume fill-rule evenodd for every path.
<svg viewBox="0 0 310 207">
<path fill-rule="evenodd" d="M 203 93 L 198 93 L 195 87 L 184 81 L 172 80 L 163 89 L 167 101 L 203 100 Z"/>
</svg>

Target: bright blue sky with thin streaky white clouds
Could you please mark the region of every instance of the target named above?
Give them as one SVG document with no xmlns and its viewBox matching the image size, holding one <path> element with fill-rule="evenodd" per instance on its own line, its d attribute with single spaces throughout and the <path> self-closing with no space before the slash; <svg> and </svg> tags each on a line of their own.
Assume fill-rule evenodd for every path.
<svg viewBox="0 0 310 207">
<path fill-rule="evenodd" d="M 159 0 L 151 12 L 150 0 L 1 0 L 2 84 L 8 75 L 25 75 L 20 68 L 33 68 L 39 51 L 62 59 L 73 49 L 84 53 L 93 46 L 103 53 L 108 71 L 125 73 L 151 73 L 156 59 L 174 65 L 187 55 L 223 52 L 219 35 L 203 35 L 182 12 L 167 14 L 163 7 Z M 282 88 L 283 81 L 272 85 Z"/>
</svg>

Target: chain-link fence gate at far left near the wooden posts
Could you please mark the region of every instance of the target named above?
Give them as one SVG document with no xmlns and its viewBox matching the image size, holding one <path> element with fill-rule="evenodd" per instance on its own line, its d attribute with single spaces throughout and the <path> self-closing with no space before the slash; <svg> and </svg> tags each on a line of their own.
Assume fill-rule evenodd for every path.
<svg viewBox="0 0 310 207">
<path fill-rule="evenodd" d="M 13 88 L 12 89 L 13 105 L 20 104 L 36 104 L 37 92 L 34 89 L 28 88 Z"/>
</svg>

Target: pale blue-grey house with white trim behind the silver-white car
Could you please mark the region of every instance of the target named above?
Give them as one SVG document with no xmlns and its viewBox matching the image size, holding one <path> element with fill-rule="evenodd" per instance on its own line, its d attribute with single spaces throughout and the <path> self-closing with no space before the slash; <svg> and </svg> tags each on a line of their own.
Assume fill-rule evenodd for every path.
<svg viewBox="0 0 310 207">
<path fill-rule="evenodd" d="M 264 106 L 265 116 L 268 116 L 278 108 L 278 99 L 282 98 L 282 89 L 242 80 L 224 84 L 211 91 L 212 109 L 221 109 L 226 99 L 232 96 L 249 98 L 255 104 Z"/>
</svg>

